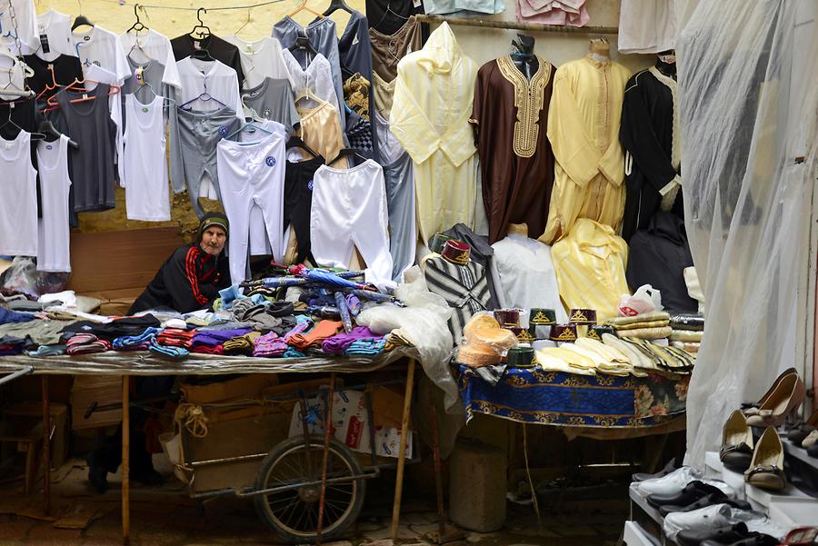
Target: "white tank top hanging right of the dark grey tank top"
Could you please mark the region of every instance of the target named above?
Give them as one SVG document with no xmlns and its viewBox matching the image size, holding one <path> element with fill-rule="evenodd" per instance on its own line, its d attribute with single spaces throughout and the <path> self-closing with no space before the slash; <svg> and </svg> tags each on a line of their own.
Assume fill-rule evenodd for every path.
<svg viewBox="0 0 818 546">
<path fill-rule="evenodd" d="M 165 222 L 171 219 L 165 156 L 165 98 L 142 104 L 125 95 L 125 210 L 128 220 Z"/>
</svg>

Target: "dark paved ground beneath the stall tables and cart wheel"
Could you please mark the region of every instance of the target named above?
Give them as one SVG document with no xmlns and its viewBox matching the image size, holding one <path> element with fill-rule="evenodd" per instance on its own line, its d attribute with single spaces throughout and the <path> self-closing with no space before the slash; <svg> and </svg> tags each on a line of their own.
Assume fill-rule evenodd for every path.
<svg viewBox="0 0 818 546">
<path fill-rule="evenodd" d="M 96 513 L 85 529 L 59 529 L 42 519 L 42 492 L 23 495 L 20 483 L 0 488 L 0 546 L 103 546 L 122 544 L 119 484 L 95 495 L 85 480 L 85 463 L 74 461 L 55 474 L 53 513 Z M 364 511 L 344 541 L 333 546 L 388 546 L 392 492 L 388 481 L 374 481 Z M 133 546 L 201 546 L 205 544 L 282 544 L 256 516 L 253 502 L 234 497 L 191 499 L 173 478 L 162 488 L 134 485 L 131 494 Z M 397 544 L 431 544 L 437 529 L 434 498 L 404 497 Z M 552 502 L 541 506 L 538 525 L 533 508 L 509 502 L 504 529 L 493 533 L 465 531 L 454 546 L 613 546 L 627 517 L 622 498 Z M 23 515 L 21 515 L 23 514 Z M 54 518 L 52 518 L 53 520 Z M 57 525 L 65 524 L 65 519 Z M 330 546 L 325 543 L 325 546 Z"/>
</svg>

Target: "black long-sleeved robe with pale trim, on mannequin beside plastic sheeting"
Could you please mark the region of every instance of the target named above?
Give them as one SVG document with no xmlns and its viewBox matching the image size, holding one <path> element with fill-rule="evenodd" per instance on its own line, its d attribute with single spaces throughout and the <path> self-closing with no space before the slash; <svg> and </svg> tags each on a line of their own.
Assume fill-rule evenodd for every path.
<svg viewBox="0 0 818 546">
<path fill-rule="evenodd" d="M 675 79 L 675 65 L 658 61 L 656 68 Z M 630 241 L 659 210 L 659 190 L 678 174 L 672 162 L 673 92 L 650 70 L 633 74 L 625 86 L 619 140 L 633 159 L 625 162 L 627 194 L 622 223 L 622 237 Z M 681 143 L 676 145 L 681 150 Z M 672 210 L 684 217 L 681 190 Z"/>
</svg>

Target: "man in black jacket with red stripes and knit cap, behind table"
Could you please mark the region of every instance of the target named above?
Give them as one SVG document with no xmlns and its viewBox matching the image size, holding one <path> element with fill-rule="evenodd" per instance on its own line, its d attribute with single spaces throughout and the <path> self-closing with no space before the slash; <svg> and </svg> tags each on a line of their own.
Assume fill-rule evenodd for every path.
<svg viewBox="0 0 818 546">
<path fill-rule="evenodd" d="M 145 292 L 136 298 L 128 314 L 157 307 L 170 307 L 179 313 L 210 307 L 219 297 L 219 290 L 230 286 L 224 256 L 229 226 L 224 214 L 205 214 L 199 223 L 196 242 L 185 244 L 171 254 Z M 165 397 L 174 381 L 174 376 L 136 377 L 134 401 Z M 162 476 L 154 470 L 145 436 L 148 417 L 150 412 L 144 409 L 131 409 L 130 477 L 145 484 L 158 485 L 162 483 Z M 116 472 L 122 462 L 122 427 L 105 442 L 105 446 L 91 452 L 87 461 L 88 481 L 96 491 L 105 492 L 108 472 Z"/>
</svg>

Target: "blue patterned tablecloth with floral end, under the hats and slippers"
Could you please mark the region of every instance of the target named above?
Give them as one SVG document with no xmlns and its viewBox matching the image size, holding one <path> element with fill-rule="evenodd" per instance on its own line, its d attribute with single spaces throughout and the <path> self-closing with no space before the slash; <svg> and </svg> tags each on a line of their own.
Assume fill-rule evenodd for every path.
<svg viewBox="0 0 818 546">
<path fill-rule="evenodd" d="M 466 421 L 485 413 L 516 422 L 587 426 L 643 427 L 684 413 L 689 375 L 672 379 L 595 376 L 509 368 L 492 386 L 474 369 L 459 365 L 457 382 Z"/>
</svg>

